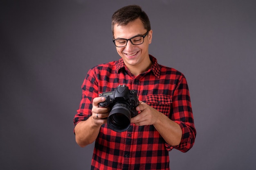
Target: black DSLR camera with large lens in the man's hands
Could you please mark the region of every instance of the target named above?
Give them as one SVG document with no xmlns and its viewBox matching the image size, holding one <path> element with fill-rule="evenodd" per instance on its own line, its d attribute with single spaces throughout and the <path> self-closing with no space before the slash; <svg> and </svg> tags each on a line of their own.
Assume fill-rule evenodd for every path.
<svg viewBox="0 0 256 170">
<path fill-rule="evenodd" d="M 137 92 L 129 90 L 126 85 L 119 85 L 112 92 L 100 94 L 105 97 L 104 102 L 99 103 L 99 107 L 110 107 L 111 111 L 108 116 L 108 126 L 116 132 L 126 131 L 130 127 L 130 120 L 137 116 L 136 107 L 139 105 Z"/>
</svg>

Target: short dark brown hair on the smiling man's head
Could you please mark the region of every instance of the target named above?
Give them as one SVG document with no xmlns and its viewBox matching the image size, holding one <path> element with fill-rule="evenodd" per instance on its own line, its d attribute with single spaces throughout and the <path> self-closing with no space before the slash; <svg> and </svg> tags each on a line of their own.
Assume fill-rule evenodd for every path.
<svg viewBox="0 0 256 170">
<path fill-rule="evenodd" d="M 129 22 L 132 22 L 137 18 L 141 20 L 141 22 L 144 24 L 144 28 L 147 31 L 151 30 L 148 15 L 144 11 L 142 11 L 141 7 L 138 5 L 129 5 L 129 6 L 120 8 L 119 10 L 115 11 L 115 13 L 112 15 L 111 30 L 113 35 L 114 35 L 115 24 L 125 26 Z"/>
</svg>

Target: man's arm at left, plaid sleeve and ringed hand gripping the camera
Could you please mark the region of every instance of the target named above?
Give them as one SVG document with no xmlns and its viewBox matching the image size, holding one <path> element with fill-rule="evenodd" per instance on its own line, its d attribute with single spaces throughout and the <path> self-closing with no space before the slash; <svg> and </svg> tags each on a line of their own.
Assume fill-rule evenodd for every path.
<svg viewBox="0 0 256 170">
<path fill-rule="evenodd" d="M 108 108 L 100 108 L 98 106 L 99 102 L 105 100 L 105 98 L 99 96 L 99 81 L 97 80 L 97 68 L 92 68 L 88 71 L 82 88 L 82 98 L 77 110 L 76 115 L 74 116 L 74 133 L 76 143 L 85 147 L 88 144 L 97 139 L 100 128 L 102 124 L 106 123 L 105 119 L 108 115 Z"/>
</svg>

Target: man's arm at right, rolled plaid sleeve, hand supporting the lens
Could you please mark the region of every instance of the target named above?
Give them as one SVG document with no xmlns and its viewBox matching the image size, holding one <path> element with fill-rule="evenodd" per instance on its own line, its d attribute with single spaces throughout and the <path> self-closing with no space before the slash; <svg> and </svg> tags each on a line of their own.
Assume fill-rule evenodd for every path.
<svg viewBox="0 0 256 170">
<path fill-rule="evenodd" d="M 138 126 L 151 125 L 164 138 L 169 149 L 176 148 L 182 152 L 188 151 L 195 141 L 195 126 L 189 96 L 189 89 L 184 76 L 180 78 L 173 95 L 171 96 L 170 116 L 166 116 L 160 111 L 141 102 L 136 108 L 141 111 L 132 118 L 131 122 Z"/>
</svg>

